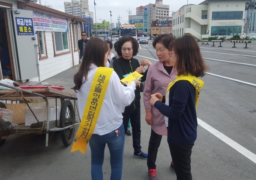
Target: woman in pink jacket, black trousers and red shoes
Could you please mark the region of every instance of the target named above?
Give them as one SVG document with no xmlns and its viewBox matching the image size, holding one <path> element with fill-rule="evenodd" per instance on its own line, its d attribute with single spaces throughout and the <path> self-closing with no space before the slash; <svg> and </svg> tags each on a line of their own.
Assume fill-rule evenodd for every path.
<svg viewBox="0 0 256 180">
<path fill-rule="evenodd" d="M 153 47 L 156 49 L 158 62 L 152 64 L 148 69 L 148 74 L 143 92 L 143 102 L 146 111 L 145 120 L 151 125 L 151 135 L 148 144 L 148 179 L 157 180 L 156 159 L 157 151 L 160 146 L 162 136 L 167 136 L 167 129 L 163 114 L 154 106 L 151 106 L 151 94 L 159 92 L 165 94 L 168 84 L 174 80 L 177 75 L 176 69 L 173 68 L 171 57 L 169 55 L 169 44 L 174 40 L 172 34 L 159 34 L 153 41 Z M 171 162 L 170 169 L 174 170 Z"/>
</svg>

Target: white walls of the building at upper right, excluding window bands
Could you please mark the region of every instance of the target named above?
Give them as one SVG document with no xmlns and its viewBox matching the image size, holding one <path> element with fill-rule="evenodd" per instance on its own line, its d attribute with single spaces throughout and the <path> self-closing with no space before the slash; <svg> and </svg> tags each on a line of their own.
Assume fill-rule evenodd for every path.
<svg viewBox="0 0 256 180">
<path fill-rule="evenodd" d="M 212 20 L 213 11 L 243 11 L 243 18 L 242 20 Z M 203 19 L 203 15 L 206 14 L 207 19 Z M 180 23 L 180 17 L 182 18 L 182 15 L 184 15 L 184 21 Z M 177 23 L 178 18 L 179 23 Z M 211 36 L 212 26 L 242 26 L 243 29 L 244 18 L 245 1 L 218 1 L 203 5 L 185 5 L 180 8 L 180 11 L 176 11 L 173 14 L 172 32 L 176 37 L 189 33 L 198 39 L 202 39 Z M 180 29 L 182 28 L 183 34 L 180 34 Z M 231 37 L 233 35 L 226 36 L 226 38 Z"/>
</svg>

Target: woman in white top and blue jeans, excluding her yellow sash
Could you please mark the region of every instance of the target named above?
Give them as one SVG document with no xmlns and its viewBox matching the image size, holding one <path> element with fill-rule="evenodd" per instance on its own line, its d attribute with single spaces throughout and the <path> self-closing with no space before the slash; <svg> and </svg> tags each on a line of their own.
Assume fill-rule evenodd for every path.
<svg viewBox="0 0 256 180">
<path fill-rule="evenodd" d="M 87 102 L 87 98 L 90 96 L 89 92 L 96 71 L 99 67 L 105 67 L 107 62 L 107 43 L 99 38 L 91 38 L 85 47 L 79 71 L 74 75 L 75 86 L 73 89 L 77 92 L 79 117 L 81 119 L 86 104 L 91 103 L 91 100 Z M 139 84 L 139 81 L 134 80 L 127 87 L 122 86 L 116 72 L 112 71 L 111 73 L 99 117 L 89 140 L 92 180 L 103 180 L 102 164 L 106 143 L 111 157 L 111 177 L 107 179 L 121 180 L 125 132 L 119 107 L 131 104 L 134 100 L 134 90 Z"/>
</svg>

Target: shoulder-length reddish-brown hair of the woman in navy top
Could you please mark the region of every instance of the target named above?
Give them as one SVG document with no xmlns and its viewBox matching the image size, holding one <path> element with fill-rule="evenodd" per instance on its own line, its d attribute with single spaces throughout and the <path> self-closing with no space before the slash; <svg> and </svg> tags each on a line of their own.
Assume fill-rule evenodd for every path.
<svg viewBox="0 0 256 180">
<path fill-rule="evenodd" d="M 203 77 L 207 70 L 197 41 L 192 35 L 183 35 L 173 40 L 169 51 L 175 51 L 177 56 L 177 75 L 191 73 L 195 77 Z"/>
</svg>

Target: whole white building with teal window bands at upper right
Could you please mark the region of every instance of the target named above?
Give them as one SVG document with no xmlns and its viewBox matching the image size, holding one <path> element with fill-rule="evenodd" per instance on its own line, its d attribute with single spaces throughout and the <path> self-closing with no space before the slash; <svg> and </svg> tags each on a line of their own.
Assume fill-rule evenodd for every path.
<svg viewBox="0 0 256 180">
<path fill-rule="evenodd" d="M 205 0 L 184 5 L 173 14 L 172 34 L 192 34 L 197 39 L 241 36 L 244 29 L 245 3 L 248 0 Z"/>
</svg>

